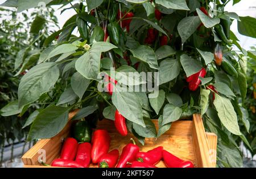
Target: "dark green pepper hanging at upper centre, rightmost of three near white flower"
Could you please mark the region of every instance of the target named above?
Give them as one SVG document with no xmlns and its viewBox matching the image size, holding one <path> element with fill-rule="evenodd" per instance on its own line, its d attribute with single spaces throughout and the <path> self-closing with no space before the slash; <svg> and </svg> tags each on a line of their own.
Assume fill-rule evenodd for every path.
<svg viewBox="0 0 256 179">
<path fill-rule="evenodd" d="M 120 26 L 117 22 L 112 22 L 108 24 L 108 32 L 110 40 L 114 45 L 118 45 L 120 42 Z"/>
</svg>

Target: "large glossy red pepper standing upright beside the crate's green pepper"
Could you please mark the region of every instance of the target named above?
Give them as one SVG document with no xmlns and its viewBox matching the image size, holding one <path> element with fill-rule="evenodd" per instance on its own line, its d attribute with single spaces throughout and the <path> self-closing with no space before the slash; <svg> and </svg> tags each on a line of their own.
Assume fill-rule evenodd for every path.
<svg viewBox="0 0 256 179">
<path fill-rule="evenodd" d="M 108 131 L 98 129 L 94 131 L 92 137 L 92 162 L 94 164 L 100 161 L 100 157 L 107 154 L 110 146 L 110 136 Z"/>
</svg>

